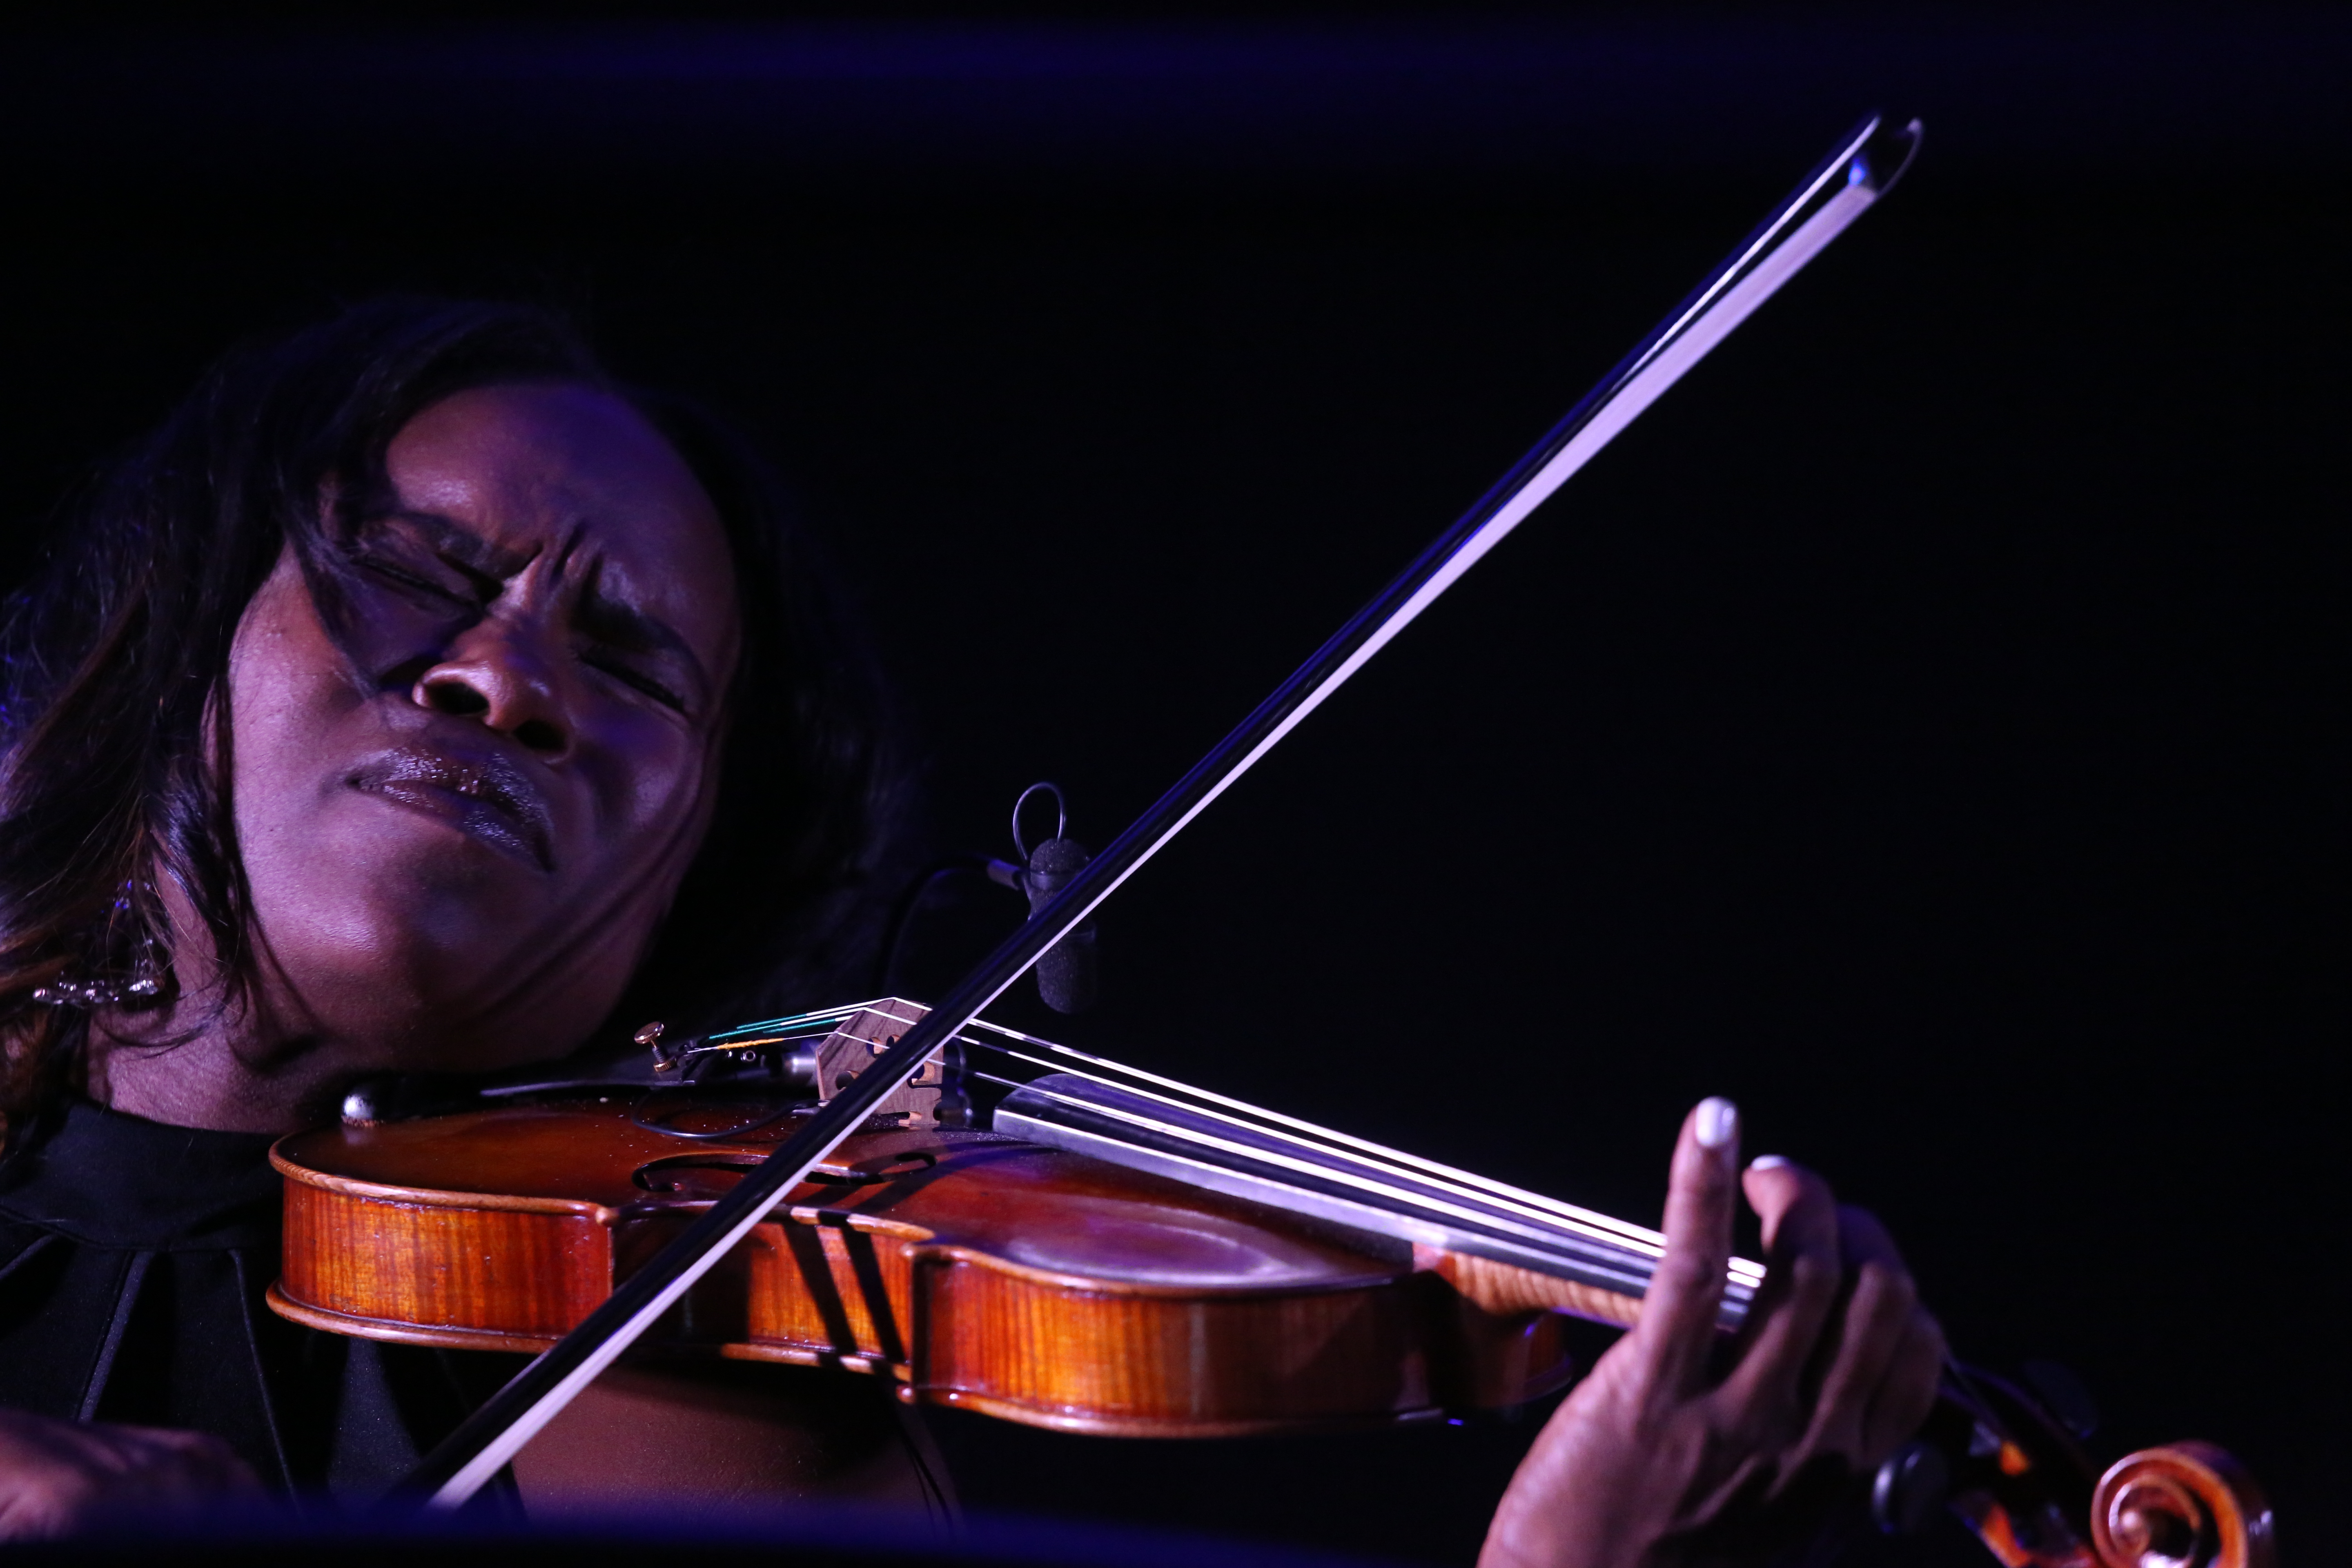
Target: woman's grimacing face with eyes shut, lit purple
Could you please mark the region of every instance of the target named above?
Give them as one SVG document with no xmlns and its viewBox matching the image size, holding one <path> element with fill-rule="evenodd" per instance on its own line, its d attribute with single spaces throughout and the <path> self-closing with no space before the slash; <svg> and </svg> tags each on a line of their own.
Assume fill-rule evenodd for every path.
<svg viewBox="0 0 2352 1568">
<path fill-rule="evenodd" d="M 388 473 L 341 637 L 287 552 L 230 654 L 266 1051 L 339 1072 L 562 1053 L 710 820 L 727 536 L 677 451 L 579 386 L 437 402 Z"/>
</svg>

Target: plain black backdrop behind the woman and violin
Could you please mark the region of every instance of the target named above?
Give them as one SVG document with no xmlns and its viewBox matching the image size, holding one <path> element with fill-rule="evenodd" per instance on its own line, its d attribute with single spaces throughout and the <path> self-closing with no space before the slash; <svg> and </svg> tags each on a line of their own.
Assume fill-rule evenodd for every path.
<svg viewBox="0 0 2352 1568">
<path fill-rule="evenodd" d="M 1033 778 L 1108 839 L 1919 113 L 1891 200 L 1120 893 L 1098 1011 L 1007 1020 L 1639 1220 L 1736 1095 L 1966 1356 L 2326 1528 L 2336 14 L 320 16 L 9 42 L 7 576 L 230 341 L 555 301 L 771 444 L 936 842 L 995 853 Z M 929 922 L 917 987 L 1011 914 Z M 985 1507 L 1465 1559 L 1531 1420 L 948 1439 Z"/>
</svg>

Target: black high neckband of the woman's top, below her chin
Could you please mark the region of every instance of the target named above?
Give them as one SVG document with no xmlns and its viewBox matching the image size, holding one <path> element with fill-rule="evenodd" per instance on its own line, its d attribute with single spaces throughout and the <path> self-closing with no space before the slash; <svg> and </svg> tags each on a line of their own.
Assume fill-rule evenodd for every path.
<svg viewBox="0 0 2352 1568">
<path fill-rule="evenodd" d="M 278 1246 L 280 1175 L 268 1133 L 212 1133 L 75 1098 L 47 1135 L 0 1166 L 0 1215 L 92 1246 L 219 1251 Z"/>
</svg>

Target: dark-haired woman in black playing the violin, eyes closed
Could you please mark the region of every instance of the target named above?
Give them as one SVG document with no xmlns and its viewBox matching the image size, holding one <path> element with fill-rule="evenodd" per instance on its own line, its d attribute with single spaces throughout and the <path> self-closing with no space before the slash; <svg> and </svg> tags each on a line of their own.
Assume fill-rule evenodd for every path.
<svg viewBox="0 0 2352 1568">
<path fill-rule="evenodd" d="M 856 628 L 720 425 L 536 313 L 386 301 L 216 369 L 5 651 L 0 1535 L 383 1490 L 513 1363 L 273 1316 L 268 1143 L 374 1074 L 844 997 L 898 827 Z M 1642 1324 L 1491 1563 L 1715 1554 L 1926 1413 L 1943 1340 L 1886 1234 L 1738 1150 L 1691 1112 Z M 1740 1197 L 1771 1284 L 1719 1347 Z M 616 1474 L 946 1488 L 873 1380 L 802 1368 L 623 1363 L 515 1465 L 524 1507 Z"/>
</svg>

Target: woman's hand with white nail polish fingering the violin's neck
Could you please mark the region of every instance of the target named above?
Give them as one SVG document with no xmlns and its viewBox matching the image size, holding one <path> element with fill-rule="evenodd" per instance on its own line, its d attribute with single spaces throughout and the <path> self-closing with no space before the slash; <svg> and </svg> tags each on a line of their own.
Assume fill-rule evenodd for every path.
<svg viewBox="0 0 2352 1568">
<path fill-rule="evenodd" d="M 1771 1502 L 1823 1462 L 1870 1472 L 1926 1420 L 1943 1331 L 1886 1229 L 1783 1159 L 1743 1182 L 1738 1150 L 1729 1100 L 1684 1119 L 1642 1321 L 1536 1436 L 1479 1568 L 1677 1563 L 1733 1500 Z M 1740 1185 L 1769 1272 L 1724 1356 L 1715 1309 Z"/>
</svg>

